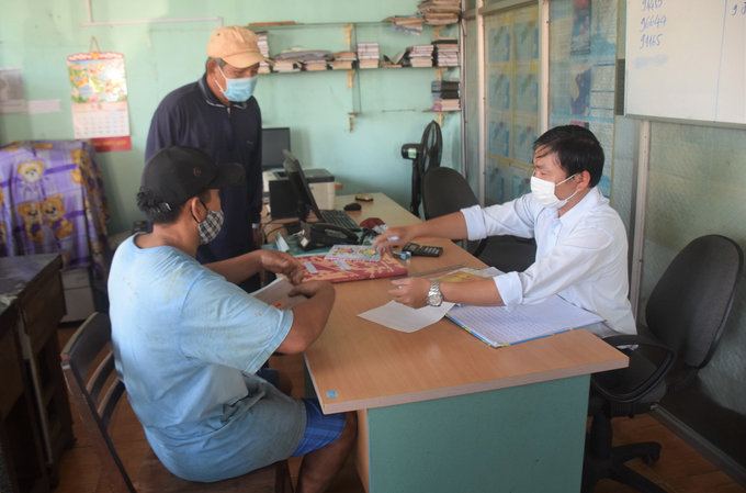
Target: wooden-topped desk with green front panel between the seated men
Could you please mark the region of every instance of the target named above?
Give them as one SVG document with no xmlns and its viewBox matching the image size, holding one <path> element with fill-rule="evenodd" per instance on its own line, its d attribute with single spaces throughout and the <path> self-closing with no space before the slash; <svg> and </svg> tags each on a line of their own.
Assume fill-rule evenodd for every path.
<svg viewBox="0 0 746 493">
<path fill-rule="evenodd" d="M 378 194 L 354 214 L 419 221 Z M 450 240 L 421 243 L 444 253 L 408 260 L 410 273 L 485 267 Z M 391 301 L 388 279 L 336 288 L 305 361 L 325 413 L 358 412 L 369 493 L 580 490 L 589 376 L 626 367 L 624 355 L 583 329 L 500 349 L 445 320 L 404 334 L 357 316 Z"/>
</svg>

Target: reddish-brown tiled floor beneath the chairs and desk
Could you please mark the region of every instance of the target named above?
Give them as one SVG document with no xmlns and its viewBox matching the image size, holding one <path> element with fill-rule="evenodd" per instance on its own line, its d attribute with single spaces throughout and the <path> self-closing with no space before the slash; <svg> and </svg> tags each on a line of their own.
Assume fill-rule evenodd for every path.
<svg viewBox="0 0 746 493">
<path fill-rule="evenodd" d="M 74 328 L 59 330 L 60 347 L 75 332 Z M 293 381 L 293 395 L 302 396 L 304 392 L 303 358 L 299 355 L 272 358 L 271 365 L 285 371 Z M 110 493 L 106 479 L 101 473 L 99 460 L 93 451 L 86 430 L 79 423 L 76 410 L 72 411 L 76 423 L 75 436 L 78 441 L 75 448 L 63 455 L 60 464 L 60 483 L 55 493 Z M 664 490 L 671 493 L 744 493 L 725 473 L 719 471 L 711 462 L 699 456 L 691 447 L 681 441 L 672 433 L 648 415 L 634 419 L 618 418 L 613 422 L 614 445 L 655 440 L 663 445 L 660 460 L 646 466 L 640 459 L 628 462 Z M 116 447 L 124 467 L 134 477 L 137 467 L 148 450 L 148 444 L 142 426 L 137 422 L 126 399 L 115 411 L 110 428 L 112 441 Z M 301 459 L 291 459 L 293 481 L 297 479 Z M 601 481 L 596 493 L 622 493 L 633 490 L 610 480 Z M 337 477 L 330 493 L 363 493 L 364 489 L 354 467 L 353 458 L 348 460 L 342 472 Z M 538 492 L 539 493 L 539 492 Z M 541 492 L 543 493 L 543 492 Z"/>
</svg>

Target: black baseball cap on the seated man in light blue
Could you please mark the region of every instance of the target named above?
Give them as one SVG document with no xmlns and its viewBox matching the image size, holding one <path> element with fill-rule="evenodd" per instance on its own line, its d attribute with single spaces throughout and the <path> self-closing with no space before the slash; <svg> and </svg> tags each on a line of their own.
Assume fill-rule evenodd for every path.
<svg viewBox="0 0 746 493">
<path fill-rule="evenodd" d="M 140 187 L 158 193 L 168 205 L 166 209 L 171 210 L 204 189 L 233 187 L 242 183 L 245 177 L 241 165 L 217 166 L 196 147 L 171 146 L 148 159 Z"/>
</svg>

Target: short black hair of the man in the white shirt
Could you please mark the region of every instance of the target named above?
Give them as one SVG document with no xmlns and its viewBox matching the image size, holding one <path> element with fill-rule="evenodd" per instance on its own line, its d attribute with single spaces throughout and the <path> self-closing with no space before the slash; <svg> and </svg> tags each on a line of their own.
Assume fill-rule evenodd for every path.
<svg viewBox="0 0 746 493">
<path fill-rule="evenodd" d="M 541 154 L 539 153 L 541 149 Z M 603 175 L 603 149 L 596 135 L 579 125 L 555 126 L 533 143 L 536 157 L 556 155 L 566 178 L 588 171 L 589 187 L 596 187 Z"/>
</svg>

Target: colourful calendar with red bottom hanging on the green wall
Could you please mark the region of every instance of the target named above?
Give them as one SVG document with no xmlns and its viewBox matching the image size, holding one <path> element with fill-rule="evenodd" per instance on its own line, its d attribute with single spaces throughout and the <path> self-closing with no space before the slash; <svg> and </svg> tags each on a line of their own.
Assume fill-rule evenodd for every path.
<svg viewBox="0 0 746 493">
<path fill-rule="evenodd" d="M 75 138 L 90 138 L 99 153 L 129 150 L 124 55 L 77 53 L 67 57 Z"/>
</svg>

